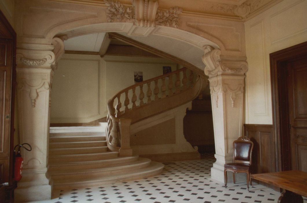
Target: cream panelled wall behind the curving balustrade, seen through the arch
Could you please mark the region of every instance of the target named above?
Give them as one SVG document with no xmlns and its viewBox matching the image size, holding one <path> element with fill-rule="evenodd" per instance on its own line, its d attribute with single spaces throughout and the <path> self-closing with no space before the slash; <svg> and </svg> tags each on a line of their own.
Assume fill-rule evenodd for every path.
<svg viewBox="0 0 307 203">
<path fill-rule="evenodd" d="M 51 123 L 87 123 L 107 116 L 107 101 L 134 84 L 162 75 L 162 66 L 177 64 L 162 58 L 64 54 L 52 83 Z"/>
</svg>

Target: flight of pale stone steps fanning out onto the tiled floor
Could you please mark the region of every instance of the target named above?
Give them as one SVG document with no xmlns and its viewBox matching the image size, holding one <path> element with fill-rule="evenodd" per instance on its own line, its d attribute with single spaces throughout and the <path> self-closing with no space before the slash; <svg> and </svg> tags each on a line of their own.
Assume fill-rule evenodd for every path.
<svg viewBox="0 0 307 203">
<path fill-rule="evenodd" d="M 105 126 L 50 128 L 48 175 L 54 189 L 112 184 L 162 172 L 161 163 L 108 151 Z"/>
</svg>

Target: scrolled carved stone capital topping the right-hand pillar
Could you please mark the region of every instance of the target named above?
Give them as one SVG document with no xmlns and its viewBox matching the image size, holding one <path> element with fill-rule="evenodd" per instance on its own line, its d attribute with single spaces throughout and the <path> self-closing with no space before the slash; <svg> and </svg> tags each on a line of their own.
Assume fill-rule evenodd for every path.
<svg viewBox="0 0 307 203">
<path fill-rule="evenodd" d="M 204 46 L 204 55 L 202 58 L 205 67 L 205 74 L 209 77 L 217 75 L 243 75 L 247 72 L 247 62 L 245 60 L 227 57 L 221 55 L 220 49 L 214 49 L 212 46 Z"/>
</svg>

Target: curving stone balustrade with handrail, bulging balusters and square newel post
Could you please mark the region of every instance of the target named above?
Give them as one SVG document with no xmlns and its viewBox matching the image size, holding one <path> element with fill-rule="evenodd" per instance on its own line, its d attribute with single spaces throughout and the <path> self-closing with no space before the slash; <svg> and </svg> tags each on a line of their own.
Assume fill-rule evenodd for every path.
<svg viewBox="0 0 307 203">
<path fill-rule="evenodd" d="M 193 89 L 196 83 L 198 88 Z M 192 101 L 201 93 L 204 83 L 204 79 L 192 70 L 182 68 L 115 94 L 107 104 L 106 139 L 109 149 L 118 151 L 120 156 L 131 156 L 130 124 Z M 183 92 L 183 99 L 176 97 Z"/>
</svg>

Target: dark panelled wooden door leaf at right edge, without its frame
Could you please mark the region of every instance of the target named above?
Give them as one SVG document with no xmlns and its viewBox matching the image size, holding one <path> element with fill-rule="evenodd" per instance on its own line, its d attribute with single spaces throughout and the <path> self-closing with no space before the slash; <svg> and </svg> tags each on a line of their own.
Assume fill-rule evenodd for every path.
<svg viewBox="0 0 307 203">
<path fill-rule="evenodd" d="M 287 62 L 291 167 L 307 172 L 307 56 Z"/>
</svg>

